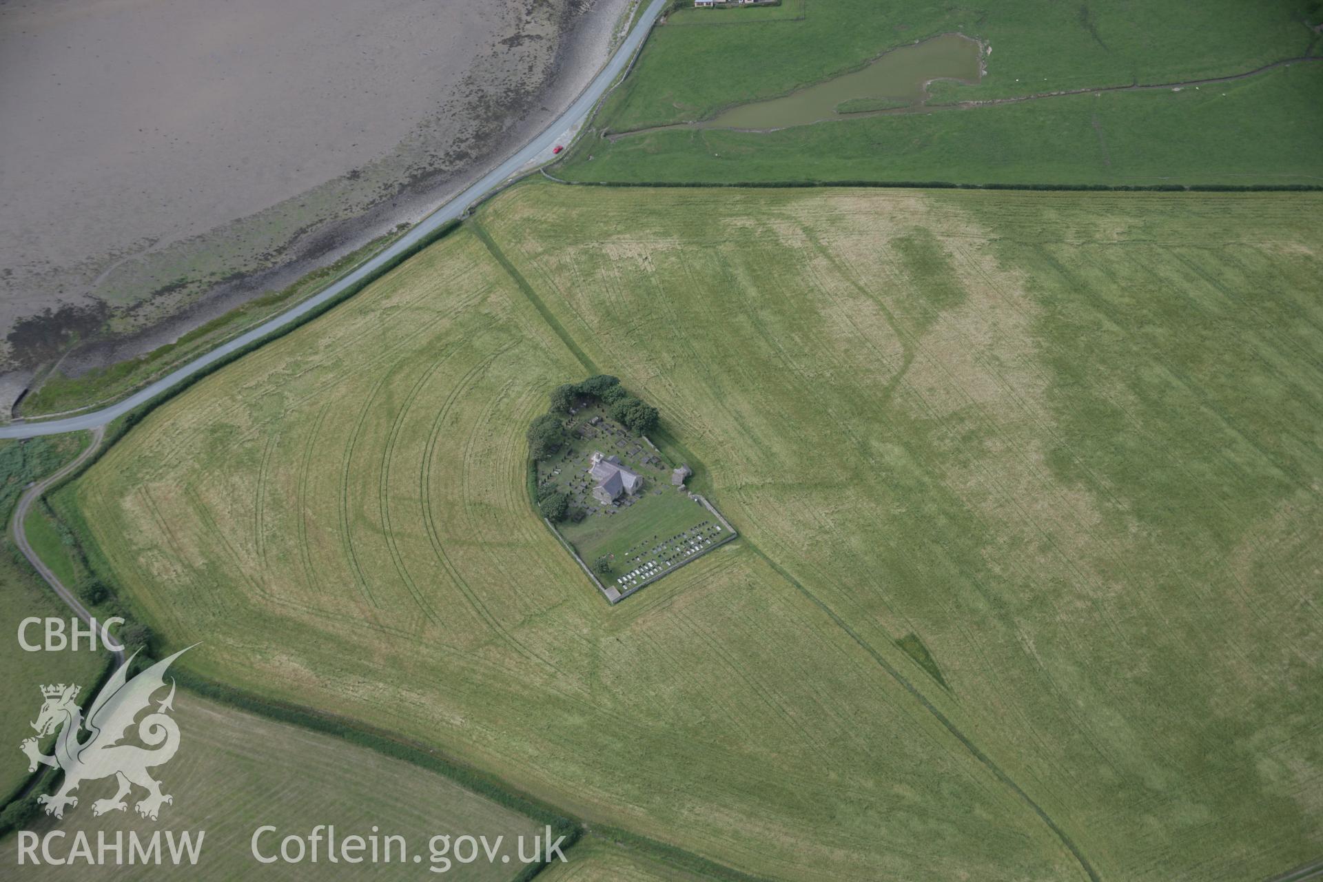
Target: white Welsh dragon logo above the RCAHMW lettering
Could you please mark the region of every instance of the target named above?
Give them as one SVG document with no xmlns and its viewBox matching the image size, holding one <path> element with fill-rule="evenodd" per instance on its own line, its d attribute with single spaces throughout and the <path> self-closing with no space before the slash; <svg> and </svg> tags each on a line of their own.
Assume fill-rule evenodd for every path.
<svg viewBox="0 0 1323 882">
<path fill-rule="evenodd" d="M 168 711 L 175 710 L 173 678 L 169 682 L 169 694 L 156 703 L 155 711 L 138 722 L 138 738 L 147 747 L 122 742 L 134 727 L 138 715 L 151 707 L 152 696 L 165 686 L 165 669 L 188 649 L 192 647 L 157 661 L 132 680 L 128 680 L 128 665 L 134 661 L 130 657 L 97 693 L 87 709 L 86 721 L 74 701 L 78 698 L 77 685 L 58 684 L 41 688 L 45 703 L 41 706 L 37 722 L 32 723 L 37 737 L 24 739 L 19 747 L 28 755 L 29 772 L 37 771 L 38 763 L 58 767 L 65 772 L 56 793 L 42 793 L 37 797 L 37 801 L 46 807 L 46 815 L 64 817 L 65 807 L 78 805 L 78 797 L 69 795 L 71 791 L 83 782 L 111 775 L 115 776 L 119 789 L 112 797 L 93 803 L 93 815 L 123 812 L 128 808 L 124 797 L 130 795 L 134 784 L 147 791 L 147 796 L 134 805 L 143 817 L 155 821 L 161 805 L 173 801 L 168 793 L 161 792 L 161 783 L 147 774 L 148 768 L 168 763 L 179 750 L 179 726 L 168 715 Z M 135 652 L 134 656 L 136 655 Z M 61 731 L 56 738 L 54 754 L 46 756 L 37 747 L 37 739 L 57 729 Z M 79 741 L 85 731 L 91 737 Z"/>
</svg>

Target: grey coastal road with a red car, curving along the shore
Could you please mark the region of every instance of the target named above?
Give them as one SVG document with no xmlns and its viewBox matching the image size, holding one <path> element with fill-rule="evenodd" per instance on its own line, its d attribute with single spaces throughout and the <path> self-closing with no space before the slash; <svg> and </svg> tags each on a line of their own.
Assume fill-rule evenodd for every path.
<svg viewBox="0 0 1323 882">
<path fill-rule="evenodd" d="M 528 163 L 537 159 L 537 156 L 546 149 L 550 149 L 556 144 L 556 139 L 561 136 L 562 132 L 576 126 L 578 122 L 587 118 L 597 104 L 597 100 L 606 93 L 611 86 L 611 81 L 617 78 L 630 63 L 634 53 L 638 52 L 639 46 L 647 38 L 648 33 L 652 30 L 652 24 L 662 15 L 662 9 L 665 7 L 667 0 L 652 0 L 648 8 L 643 12 L 639 22 L 634 29 L 624 37 L 624 41 L 611 56 L 610 61 L 598 71 L 593 82 L 589 83 L 578 98 L 561 114 L 556 120 L 552 122 L 541 135 L 533 138 L 523 148 L 516 151 L 500 165 L 493 168 L 491 172 L 483 176 L 476 184 L 470 186 L 467 190 L 454 197 L 448 202 L 443 204 L 435 212 L 429 214 L 426 218 L 418 222 L 411 230 L 405 233 L 402 237 L 396 239 L 390 247 L 377 253 L 370 259 L 361 263 L 356 270 L 345 276 L 341 276 L 336 282 L 325 287 L 320 294 L 304 300 L 299 305 L 282 312 L 280 315 L 270 319 L 269 321 L 258 325 L 257 328 L 249 331 L 247 333 L 239 335 L 238 337 L 230 340 L 229 342 L 221 344 L 216 349 L 212 349 L 206 354 L 198 356 L 193 361 L 175 369 L 173 372 L 165 374 L 156 382 L 144 386 L 132 395 L 99 410 L 89 411 L 86 414 L 78 414 L 77 417 L 65 417 L 62 419 L 50 419 L 45 422 L 34 423 L 11 423 L 8 426 L 0 426 L 0 438 L 36 438 L 37 435 L 60 435 L 62 432 L 73 432 L 87 428 L 98 428 L 105 426 L 116 417 L 122 417 L 128 411 L 134 410 L 139 405 L 147 403 L 156 395 L 172 389 L 184 380 L 192 377 L 197 372 L 202 370 L 208 365 L 229 356 L 230 353 L 243 349 L 249 344 L 253 344 L 262 337 L 267 336 L 273 331 L 279 331 L 280 328 L 298 321 L 302 316 L 316 309 L 328 300 L 332 300 L 343 291 L 349 287 L 359 284 L 364 280 L 372 279 L 381 267 L 389 266 L 397 255 L 414 247 L 418 242 L 425 241 L 438 229 L 463 217 L 464 212 L 468 210 L 475 202 L 486 197 L 492 190 L 500 188 L 509 177 L 519 173 L 519 171 Z"/>
</svg>

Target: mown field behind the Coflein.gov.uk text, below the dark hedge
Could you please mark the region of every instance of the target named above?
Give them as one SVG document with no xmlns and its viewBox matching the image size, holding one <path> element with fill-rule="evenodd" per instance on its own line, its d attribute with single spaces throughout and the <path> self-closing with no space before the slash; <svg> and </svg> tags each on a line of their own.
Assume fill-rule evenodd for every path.
<svg viewBox="0 0 1323 882">
<path fill-rule="evenodd" d="M 443 878 L 512 879 L 523 869 L 517 862 L 515 837 L 540 832 L 534 821 L 491 800 L 462 789 L 445 776 L 366 747 L 274 722 L 235 710 L 193 693 L 180 692 L 172 714 L 180 726 L 179 754 L 153 774 L 161 789 L 175 797 L 163 807 L 156 824 L 134 813 L 111 812 L 93 817 L 94 799 L 111 796 L 112 780 L 87 782 L 79 787 L 77 808 L 64 821 L 42 815 L 25 829 L 38 836 L 60 826 L 71 836 L 87 834 L 95 848 L 97 834 L 106 830 L 136 830 L 151 836 L 155 829 L 205 830 L 201 858 L 196 866 L 153 867 L 151 878 L 179 879 L 357 879 L 426 878 L 427 844 L 433 836 L 504 836 L 500 853 L 509 863 L 486 860 L 454 865 Z M 17 752 L 17 751 L 16 751 Z M 136 799 L 142 795 L 136 793 Z M 298 833 L 307 837 L 318 824 L 333 824 L 337 838 L 351 834 L 368 837 L 373 826 L 405 837 L 409 863 L 331 863 L 321 844 L 316 863 L 259 863 L 251 854 L 251 838 L 258 826 L 273 824 L 277 834 L 263 834 L 263 856 L 278 852 L 280 838 Z M 17 866 L 17 837 L 0 841 L 0 861 L 11 879 L 139 879 L 140 866 Z M 164 850 L 164 845 L 161 846 Z M 66 853 L 69 840 L 56 842 L 56 854 Z M 397 852 L 398 853 L 398 852 Z M 411 856 L 421 854 L 421 865 Z M 126 846 L 127 861 L 127 846 Z"/>
</svg>

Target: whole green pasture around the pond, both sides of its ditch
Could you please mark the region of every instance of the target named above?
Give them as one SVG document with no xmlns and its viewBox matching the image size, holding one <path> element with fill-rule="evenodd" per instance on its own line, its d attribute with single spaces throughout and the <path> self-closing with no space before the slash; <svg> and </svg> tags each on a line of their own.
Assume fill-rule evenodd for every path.
<svg viewBox="0 0 1323 882">
<path fill-rule="evenodd" d="M 959 32 L 991 48 L 979 85 L 933 83 L 921 114 L 771 132 L 663 130 L 582 139 L 557 177 L 611 182 L 1320 184 L 1323 62 L 1180 91 L 959 102 L 1229 77 L 1316 56 L 1316 3 L 1003 3 L 995 9 L 832 0 L 804 21 L 660 26 L 594 126 L 628 132 L 710 119 Z M 697 11 L 701 12 L 701 11 Z M 734 16 L 728 17 L 738 17 Z M 721 58 L 720 75 L 696 77 Z"/>
</svg>

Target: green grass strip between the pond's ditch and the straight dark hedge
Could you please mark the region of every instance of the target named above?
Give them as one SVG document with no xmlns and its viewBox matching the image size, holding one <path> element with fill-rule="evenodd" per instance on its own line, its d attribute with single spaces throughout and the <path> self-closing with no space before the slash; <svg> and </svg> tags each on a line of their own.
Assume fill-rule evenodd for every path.
<svg viewBox="0 0 1323 882">
<path fill-rule="evenodd" d="M 1066 95 L 774 132 L 590 139 L 552 173 L 587 182 L 1316 185 L 1320 97 L 1323 62 L 1312 62 L 1179 93 Z"/>
</svg>

